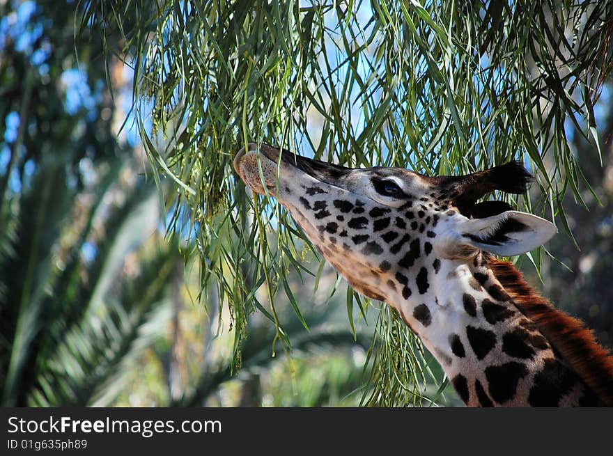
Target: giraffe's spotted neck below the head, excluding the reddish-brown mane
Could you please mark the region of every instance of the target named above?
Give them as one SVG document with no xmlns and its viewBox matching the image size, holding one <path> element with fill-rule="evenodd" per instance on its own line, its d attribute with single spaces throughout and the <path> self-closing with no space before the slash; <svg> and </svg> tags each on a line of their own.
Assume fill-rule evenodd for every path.
<svg viewBox="0 0 613 456">
<path fill-rule="evenodd" d="M 443 261 L 423 294 L 391 297 L 469 406 L 580 406 L 598 399 L 481 255 Z"/>
</svg>

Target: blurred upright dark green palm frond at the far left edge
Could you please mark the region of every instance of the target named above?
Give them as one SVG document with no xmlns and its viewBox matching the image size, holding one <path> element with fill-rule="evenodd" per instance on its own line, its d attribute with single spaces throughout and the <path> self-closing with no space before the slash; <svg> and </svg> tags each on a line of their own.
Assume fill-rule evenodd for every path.
<svg viewBox="0 0 613 456">
<path fill-rule="evenodd" d="M 45 320 L 45 294 L 53 275 L 52 251 L 70 202 L 63 159 L 50 157 L 31 191 L 22 195 L 12 255 L 3 258 L 6 295 L 1 303 L 2 402 L 21 401 L 20 384 L 31 370 L 34 346 Z"/>
</svg>

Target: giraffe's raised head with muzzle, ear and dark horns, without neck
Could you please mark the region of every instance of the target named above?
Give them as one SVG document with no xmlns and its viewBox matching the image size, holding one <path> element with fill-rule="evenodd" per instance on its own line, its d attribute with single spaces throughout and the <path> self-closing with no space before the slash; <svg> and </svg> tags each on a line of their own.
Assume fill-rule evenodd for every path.
<svg viewBox="0 0 613 456">
<path fill-rule="evenodd" d="M 490 191 L 525 191 L 516 163 L 460 177 L 429 178 L 404 168 L 346 168 L 249 144 L 234 166 L 259 194 L 275 196 L 311 242 L 368 297 L 396 301 L 427 290 L 444 260 L 479 251 L 518 255 L 557 232 L 552 223 L 502 202 L 476 203 Z M 264 188 L 265 187 L 265 188 Z"/>
</svg>

